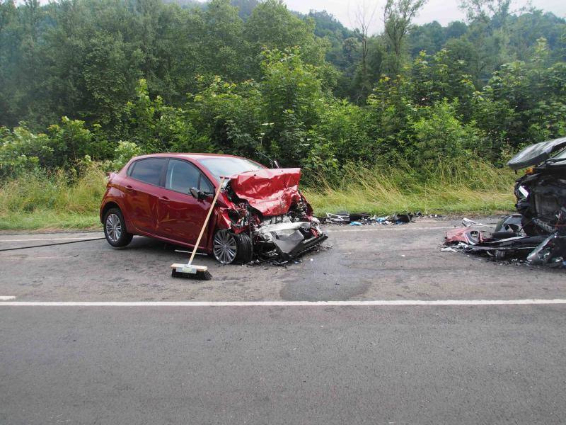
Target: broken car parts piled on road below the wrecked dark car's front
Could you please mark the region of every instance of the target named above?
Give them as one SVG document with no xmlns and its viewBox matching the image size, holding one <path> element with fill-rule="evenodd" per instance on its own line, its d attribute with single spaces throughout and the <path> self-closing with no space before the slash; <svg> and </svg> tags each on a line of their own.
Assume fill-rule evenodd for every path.
<svg viewBox="0 0 566 425">
<path fill-rule="evenodd" d="M 521 214 L 509 215 L 489 232 L 485 229 L 486 225 L 465 218 L 462 220 L 464 227 L 446 232 L 446 247 L 442 251 L 481 254 L 498 261 L 566 268 L 566 227 L 557 227 L 550 234 L 529 236 L 524 231 L 522 222 L 524 217 Z"/>
</svg>

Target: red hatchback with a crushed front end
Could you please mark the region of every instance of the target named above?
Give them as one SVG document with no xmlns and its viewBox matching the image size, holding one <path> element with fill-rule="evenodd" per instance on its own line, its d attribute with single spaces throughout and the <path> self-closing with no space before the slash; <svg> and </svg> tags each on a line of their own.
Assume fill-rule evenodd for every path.
<svg viewBox="0 0 566 425">
<path fill-rule="evenodd" d="M 323 242 L 299 192 L 301 169 L 267 169 L 219 154 L 135 157 L 108 181 L 100 221 L 112 246 L 134 234 L 195 246 L 221 177 L 224 181 L 199 249 L 220 263 L 289 261 Z"/>
</svg>

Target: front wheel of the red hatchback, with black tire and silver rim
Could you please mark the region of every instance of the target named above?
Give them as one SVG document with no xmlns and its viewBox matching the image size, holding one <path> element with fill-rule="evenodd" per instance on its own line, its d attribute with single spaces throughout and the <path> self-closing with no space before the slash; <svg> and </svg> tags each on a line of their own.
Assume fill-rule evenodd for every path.
<svg viewBox="0 0 566 425">
<path fill-rule="evenodd" d="M 247 234 L 219 229 L 212 240 L 212 256 L 221 264 L 243 264 L 253 259 L 253 245 Z"/>
</svg>

